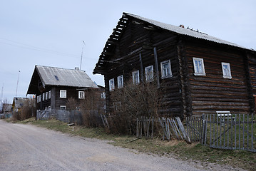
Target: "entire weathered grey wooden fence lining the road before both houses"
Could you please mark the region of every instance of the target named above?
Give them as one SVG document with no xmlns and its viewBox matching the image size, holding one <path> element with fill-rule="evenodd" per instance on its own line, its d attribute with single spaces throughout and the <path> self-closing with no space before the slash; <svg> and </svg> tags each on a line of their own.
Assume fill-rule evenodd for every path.
<svg viewBox="0 0 256 171">
<path fill-rule="evenodd" d="M 79 111 L 68 110 L 43 110 L 37 111 L 38 119 L 50 117 L 62 120 L 66 123 L 82 122 L 97 123 L 106 128 L 110 128 L 111 117 L 100 115 L 94 110 L 88 110 L 91 120 L 84 120 Z M 256 152 L 256 116 L 247 114 L 228 114 L 228 115 L 193 115 L 185 118 L 185 125 L 180 118 L 153 118 L 141 117 L 134 120 L 136 136 L 141 138 L 153 138 L 156 128 L 162 130 L 163 140 L 186 140 L 188 142 L 200 142 L 209 147 L 229 149 L 229 150 L 248 150 Z M 83 123 L 84 124 L 84 123 Z"/>
</svg>

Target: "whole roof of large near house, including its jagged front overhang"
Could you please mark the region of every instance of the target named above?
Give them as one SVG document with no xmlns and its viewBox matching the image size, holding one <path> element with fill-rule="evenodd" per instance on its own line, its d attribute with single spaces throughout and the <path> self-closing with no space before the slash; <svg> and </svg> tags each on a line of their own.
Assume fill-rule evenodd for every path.
<svg viewBox="0 0 256 171">
<path fill-rule="evenodd" d="M 104 62 L 106 62 L 106 59 L 108 58 L 108 52 L 113 51 L 113 49 L 116 46 L 116 41 L 119 40 L 119 38 L 121 37 L 121 33 L 123 32 L 123 30 L 126 28 L 128 21 L 133 20 L 133 19 L 138 19 L 140 21 L 143 21 L 145 23 L 150 24 L 151 26 L 156 26 L 158 28 L 162 28 L 166 31 L 171 31 L 175 34 L 178 35 L 182 35 L 182 36 L 190 36 L 193 38 L 199 38 L 199 39 L 203 39 L 206 41 L 212 41 L 214 43 L 220 43 L 220 44 L 224 44 L 227 46 L 234 46 L 237 48 L 242 48 L 245 50 L 249 50 L 249 51 L 254 51 L 252 48 L 245 48 L 243 46 L 237 45 L 236 43 L 232 43 L 229 41 L 224 41 L 220 38 L 216 38 L 213 36 L 209 36 L 206 33 L 201 33 L 199 31 L 194 31 L 188 28 L 183 28 L 180 26 L 173 26 L 171 24 L 165 24 L 159 21 L 155 21 L 152 19 L 146 19 L 144 17 L 141 16 L 137 16 L 134 14 L 128 14 L 128 13 L 123 13 L 122 18 L 118 21 L 118 25 L 116 26 L 116 28 L 113 29 L 113 33 L 111 34 L 111 36 L 108 38 L 108 41 L 106 42 L 105 47 L 103 48 L 103 52 L 101 53 L 101 56 L 98 59 L 98 63 L 96 63 L 96 66 L 93 70 L 93 73 L 102 73 L 102 68 L 103 68 L 103 64 Z"/>
</svg>

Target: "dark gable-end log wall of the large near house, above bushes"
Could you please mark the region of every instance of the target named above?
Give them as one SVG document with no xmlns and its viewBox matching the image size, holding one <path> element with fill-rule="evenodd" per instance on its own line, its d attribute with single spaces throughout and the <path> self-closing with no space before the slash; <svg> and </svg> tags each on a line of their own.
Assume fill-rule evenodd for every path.
<svg viewBox="0 0 256 171">
<path fill-rule="evenodd" d="M 145 24 L 130 22 L 123 31 L 116 45 L 116 50 L 108 62 L 107 74 L 105 74 L 107 111 L 111 112 L 113 102 L 109 91 L 109 80 L 114 78 L 117 88 L 117 77 L 123 75 L 124 86 L 132 79 L 133 71 L 140 71 L 140 56 L 142 58 L 143 78 L 145 79 L 145 67 L 153 65 L 155 58 L 153 48 L 156 48 L 158 56 L 158 70 L 160 91 L 163 108 L 160 113 L 183 117 L 183 101 L 180 84 L 180 67 L 177 52 L 177 36 L 170 32 L 153 28 L 145 28 Z M 160 75 L 160 63 L 170 60 L 173 77 L 162 79 Z M 156 75 L 155 75 L 155 78 Z M 141 79 L 141 76 L 140 76 Z M 142 82 L 144 80 L 140 80 Z"/>
</svg>

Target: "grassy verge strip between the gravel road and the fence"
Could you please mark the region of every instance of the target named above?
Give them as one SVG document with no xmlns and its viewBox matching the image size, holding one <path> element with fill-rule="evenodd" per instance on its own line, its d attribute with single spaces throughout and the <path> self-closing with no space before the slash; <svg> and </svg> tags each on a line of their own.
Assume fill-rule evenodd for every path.
<svg viewBox="0 0 256 171">
<path fill-rule="evenodd" d="M 35 120 L 30 118 L 18 123 L 29 123 L 43 128 L 79 135 L 86 138 L 98 138 L 101 140 L 111 140 L 111 144 L 119 147 L 127 147 L 158 155 L 172 155 L 181 160 L 195 160 L 200 162 L 212 162 L 217 164 L 231 165 L 245 170 L 255 170 L 256 152 L 242 150 L 219 150 L 200 145 L 198 143 L 188 144 L 179 140 L 163 141 L 160 138 L 153 140 L 136 139 L 135 136 L 111 135 L 106 133 L 103 128 L 85 128 L 83 126 L 68 126 L 58 120 Z"/>
</svg>

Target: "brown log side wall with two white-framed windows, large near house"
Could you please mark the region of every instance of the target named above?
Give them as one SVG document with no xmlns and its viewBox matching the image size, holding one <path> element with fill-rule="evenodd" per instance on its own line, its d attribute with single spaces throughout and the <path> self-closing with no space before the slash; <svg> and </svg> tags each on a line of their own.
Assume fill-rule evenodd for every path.
<svg viewBox="0 0 256 171">
<path fill-rule="evenodd" d="M 235 48 L 188 42 L 186 56 L 193 114 L 215 113 L 216 110 L 249 113 L 245 53 Z M 194 76 L 193 57 L 203 58 L 206 76 Z M 223 78 L 222 62 L 230 63 L 232 79 Z"/>
</svg>

